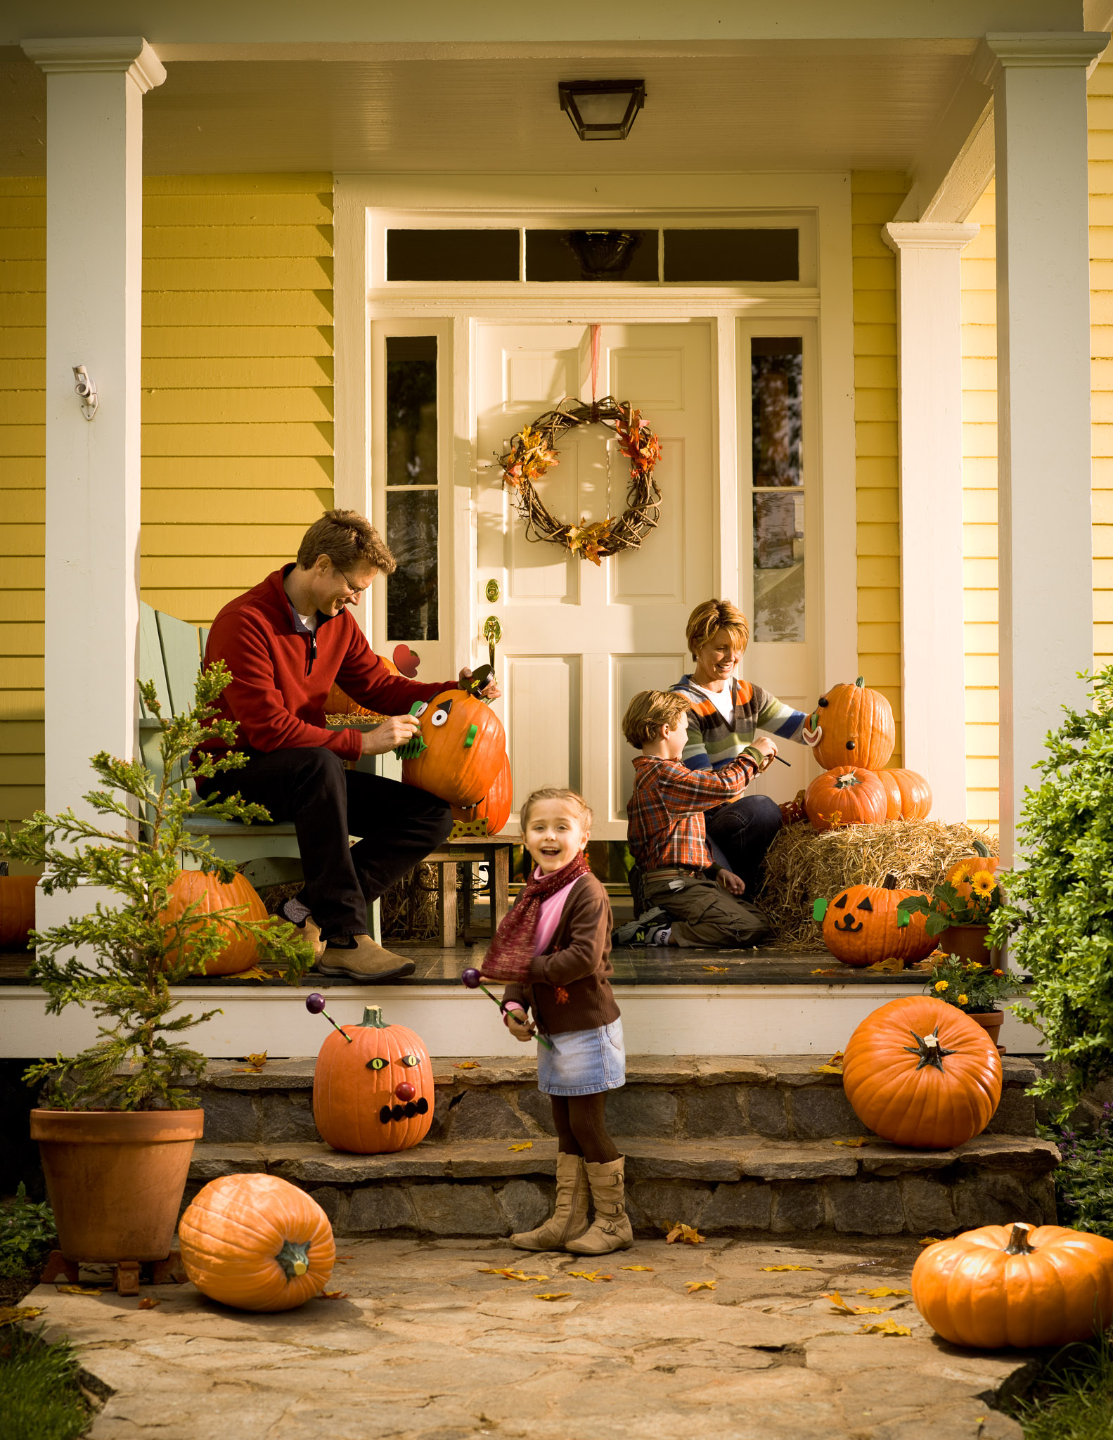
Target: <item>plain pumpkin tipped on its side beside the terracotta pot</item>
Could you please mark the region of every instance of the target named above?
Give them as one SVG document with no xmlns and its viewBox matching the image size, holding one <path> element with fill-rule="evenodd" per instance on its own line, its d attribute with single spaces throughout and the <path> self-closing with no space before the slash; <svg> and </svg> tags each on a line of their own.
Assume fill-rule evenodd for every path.
<svg viewBox="0 0 1113 1440">
<path fill-rule="evenodd" d="M 328 1217 L 276 1175 L 222 1175 L 179 1221 L 181 1263 L 202 1295 L 238 1310 L 292 1310 L 335 1264 Z"/>
</svg>

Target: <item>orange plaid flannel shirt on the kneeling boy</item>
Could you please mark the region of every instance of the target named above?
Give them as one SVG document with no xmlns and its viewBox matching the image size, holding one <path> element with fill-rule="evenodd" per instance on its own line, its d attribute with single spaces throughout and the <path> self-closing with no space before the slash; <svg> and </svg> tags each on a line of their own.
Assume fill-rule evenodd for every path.
<svg viewBox="0 0 1113 1440">
<path fill-rule="evenodd" d="M 754 775 L 757 762 L 749 755 L 721 770 L 690 770 L 680 760 L 636 756 L 626 814 L 629 848 L 642 870 L 707 870 L 711 851 L 703 812 L 737 799 Z"/>
</svg>

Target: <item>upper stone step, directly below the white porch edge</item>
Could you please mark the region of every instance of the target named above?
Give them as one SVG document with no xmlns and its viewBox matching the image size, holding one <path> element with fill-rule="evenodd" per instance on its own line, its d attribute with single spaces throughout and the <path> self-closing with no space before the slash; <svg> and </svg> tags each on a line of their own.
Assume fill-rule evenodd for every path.
<svg viewBox="0 0 1113 1440">
<path fill-rule="evenodd" d="M 549 1097 L 537 1090 L 536 1061 L 435 1060 L 433 1125 L 428 1143 L 528 1140 L 554 1135 Z M 818 1073 L 814 1056 L 629 1056 L 626 1084 L 608 1096 L 612 1135 L 651 1140 L 763 1136 L 822 1140 L 865 1135 L 837 1074 Z M 1004 1089 L 989 1135 L 1035 1135 L 1025 1094 L 1035 1066 L 1004 1056 Z M 279 1060 L 256 1071 L 210 1061 L 200 1090 L 204 1138 L 217 1145 L 320 1140 L 312 1120 L 314 1060 Z M 425 1146 L 423 1146 L 425 1148 Z"/>
</svg>

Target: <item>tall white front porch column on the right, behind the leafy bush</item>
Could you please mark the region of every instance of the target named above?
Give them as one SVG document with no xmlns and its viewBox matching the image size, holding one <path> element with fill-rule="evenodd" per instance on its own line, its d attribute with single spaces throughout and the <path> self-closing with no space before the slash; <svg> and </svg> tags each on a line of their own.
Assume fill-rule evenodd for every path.
<svg viewBox="0 0 1113 1440">
<path fill-rule="evenodd" d="M 1104 32 L 988 35 L 995 59 L 1001 850 L 1093 664 L 1086 73 Z"/>
</svg>

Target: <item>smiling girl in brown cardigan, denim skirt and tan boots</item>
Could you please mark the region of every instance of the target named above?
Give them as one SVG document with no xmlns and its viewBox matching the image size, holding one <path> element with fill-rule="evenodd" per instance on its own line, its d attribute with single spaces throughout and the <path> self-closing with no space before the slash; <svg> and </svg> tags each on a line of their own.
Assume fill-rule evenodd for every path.
<svg viewBox="0 0 1113 1440">
<path fill-rule="evenodd" d="M 556 1210 L 510 1243 L 605 1256 L 628 1250 L 634 1231 L 625 1159 L 603 1119 L 606 1092 L 625 1084 L 626 1053 L 609 981 L 610 901 L 583 855 L 590 829 L 592 812 L 574 791 L 549 786 L 526 801 L 521 832 L 536 868 L 498 927 L 482 975 L 510 982 L 503 1020 L 515 1040 L 537 1032 L 549 1040 L 537 1047 L 537 1089 L 551 1100 L 557 1132 Z"/>
</svg>

